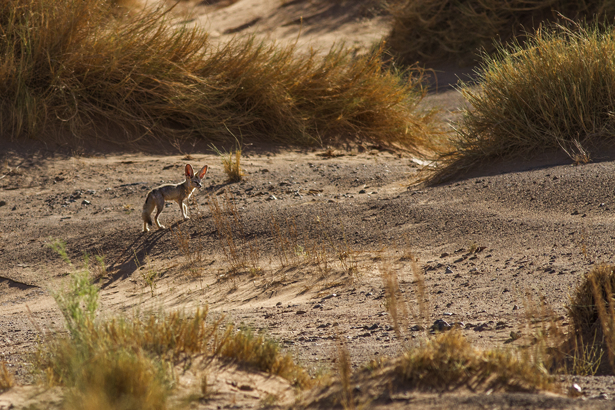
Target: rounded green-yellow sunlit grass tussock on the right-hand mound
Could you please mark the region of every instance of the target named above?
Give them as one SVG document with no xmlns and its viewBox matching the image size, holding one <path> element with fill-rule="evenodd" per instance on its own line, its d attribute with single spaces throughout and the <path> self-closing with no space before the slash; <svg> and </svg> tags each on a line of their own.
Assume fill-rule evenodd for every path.
<svg viewBox="0 0 615 410">
<path fill-rule="evenodd" d="M 541 28 L 525 44 L 501 47 L 478 87 L 462 89 L 472 109 L 453 137 L 438 177 L 487 160 L 562 150 L 587 162 L 613 140 L 615 37 L 598 26 Z"/>
</svg>

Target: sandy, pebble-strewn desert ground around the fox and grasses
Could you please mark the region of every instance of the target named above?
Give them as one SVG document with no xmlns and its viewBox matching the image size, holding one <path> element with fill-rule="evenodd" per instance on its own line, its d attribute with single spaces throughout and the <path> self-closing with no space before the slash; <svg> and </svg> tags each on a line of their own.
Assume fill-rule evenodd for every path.
<svg viewBox="0 0 615 410">
<path fill-rule="evenodd" d="M 320 8 L 319 2 L 297 0 L 183 6 L 186 18 L 210 25 L 220 37 L 252 27 L 259 36 L 285 41 L 298 36 L 296 19 L 303 15 L 300 42 L 322 45 L 348 36 L 365 49 L 386 32 L 388 17 L 368 7 L 370 2 L 358 2 L 365 7 L 344 20 L 343 10 L 355 10 L 350 3 L 357 2 Z M 448 120 L 464 101 L 448 91 L 429 95 L 425 104 L 442 108 Z M 530 345 L 528 317 L 536 313 L 532 301 L 541 297 L 565 326 L 565 303 L 582 275 L 615 261 L 615 163 L 609 160 L 574 166 L 565 157 L 544 156 L 416 187 L 411 182 L 421 167 L 406 154 L 379 147 L 329 154 L 248 147 L 244 181 L 228 183 L 220 158 L 198 149 L 153 155 L 6 147 L 0 173 L 0 352 L 19 386 L 0 395 L 0 408 L 61 403 L 57 389 L 31 384 L 29 356 L 64 326 L 51 294 L 73 268 L 49 248 L 54 239 L 66 242 L 75 265 L 85 252 L 105 257 L 108 270 L 94 272 L 100 277 L 101 318 L 207 304 L 214 317 L 266 331 L 313 374 L 335 369 L 337 337 L 346 342 L 355 369 L 399 353 L 386 310 L 386 274 L 396 275 L 416 313 L 408 328 L 429 329 L 445 320 L 459 323 L 478 347 L 503 348 Z M 186 162 L 210 165 L 204 187 L 192 197 L 191 219 L 182 221 L 177 204 L 169 203 L 161 222 L 170 229 L 142 233 L 146 193 L 163 182 L 180 182 Z M 219 235 L 216 204 L 217 215 L 231 226 L 237 257 Z M 232 269 L 242 258 L 251 269 Z M 154 286 L 144 280 L 151 272 Z M 417 278 L 426 285 L 422 312 Z M 522 337 L 510 341 L 512 331 Z M 408 330 L 406 342 L 427 334 Z M 184 373 L 180 391 L 196 389 L 204 369 L 196 365 Z M 319 392 L 295 402 L 295 392 L 277 377 L 224 363 L 207 371 L 217 393 L 194 408 L 328 408 Z M 561 381 L 563 392 L 579 384 L 581 397 L 409 391 L 366 406 L 613 408 L 615 377 Z"/>
</svg>

